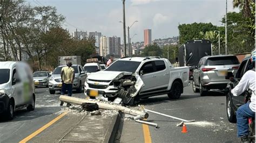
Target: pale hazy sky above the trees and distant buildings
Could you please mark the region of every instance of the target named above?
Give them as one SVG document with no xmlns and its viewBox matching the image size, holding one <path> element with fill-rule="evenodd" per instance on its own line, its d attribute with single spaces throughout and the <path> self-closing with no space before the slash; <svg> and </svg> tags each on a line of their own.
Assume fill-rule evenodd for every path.
<svg viewBox="0 0 256 143">
<path fill-rule="evenodd" d="M 63 27 L 70 32 L 98 31 L 123 39 L 122 0 L 30 0 L 32 5 L 56 6 L 58 13 L 66 17 Z M 220 26 L 225 15 L 225 0 L 126 0 L 126 26 L 130 29 L 132 41 L 143 40 L 143 30 L 152 29 L 152 40 L 178 35 L 178 23 L 211 22 Z M 228 0 L 228 11 L 233 9 Z M 126 32 L 127 34 L 127 32 Z"/>
</svg>

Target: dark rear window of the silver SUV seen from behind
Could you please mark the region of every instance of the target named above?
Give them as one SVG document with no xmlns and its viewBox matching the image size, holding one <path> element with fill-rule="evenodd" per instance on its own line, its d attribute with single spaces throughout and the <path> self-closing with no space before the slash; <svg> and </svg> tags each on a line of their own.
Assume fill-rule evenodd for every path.
<svg viewBox="0 0 256 143">
<path fill-rule="evenodd" d="M 239 61 L 236 56 L 213 57 L 207 60 L 208 66 L 237 65 Z"/>
</svg>

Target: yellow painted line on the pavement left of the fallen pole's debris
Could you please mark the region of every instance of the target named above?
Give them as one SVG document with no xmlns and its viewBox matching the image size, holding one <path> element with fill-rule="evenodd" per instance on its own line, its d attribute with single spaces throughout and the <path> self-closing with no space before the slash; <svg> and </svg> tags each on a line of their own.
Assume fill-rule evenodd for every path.
<svg viewBox="0 0 256 143">
<path fill-rule="evenodd" d="M 46 125 L 42 126 L 41 128 L 39 128 L 37 131 L 33 132 L 32 134 L 30 134 L 28 137 L 26 137 L 25 139 L 23 139 L 22 141 L 19 141 L 19 143 L 24 143 L 27 142 L 29 140 L 31 140 L 33 137 L 36 137 L 37 134 L 43 132 L 46 128 L 48 128 L 49 126 L 51 126 L 52 124 L 54 124 L 57 120 L 59 120 L 60 118 L 62 118 L 63 116 L 65 116 L 68 112 L 64 112 L 61 115 L 59 115 L 58 117 L 56 117 L 55 119 L 51 120 L 49 123 L 47 123 Z"/>
</svg>

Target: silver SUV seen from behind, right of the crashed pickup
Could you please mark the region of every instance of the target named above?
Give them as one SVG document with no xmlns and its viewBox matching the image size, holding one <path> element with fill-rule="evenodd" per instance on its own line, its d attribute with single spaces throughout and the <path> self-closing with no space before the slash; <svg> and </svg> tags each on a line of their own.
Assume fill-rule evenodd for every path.
<svg viewBox="0 0 256 143">
<path fill-rule="evenodd" d="M 230 80 L 226 80 L 227 72 L 234 75 L 239 68 L 239 61 L 234 55 L 204 56 L 193 72 L 193 91 L 205 96 L 208 90 L 225 89 Z"/>
</svg>

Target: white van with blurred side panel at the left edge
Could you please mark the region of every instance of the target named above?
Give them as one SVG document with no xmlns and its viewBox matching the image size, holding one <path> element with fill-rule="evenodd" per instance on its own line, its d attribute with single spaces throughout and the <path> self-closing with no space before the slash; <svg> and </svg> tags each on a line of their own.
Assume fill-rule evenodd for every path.
<svg viewBox="0 0 256 143">
<path fill-rule="evenodd" d="M 0 62 L 0 118 L 11 120 L 14 111 L 25 107 L 35 110 L 35 99 L 30 66 L 24 62 Z"/>
</svg>

